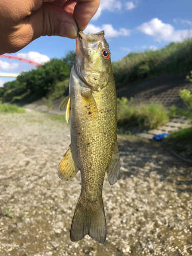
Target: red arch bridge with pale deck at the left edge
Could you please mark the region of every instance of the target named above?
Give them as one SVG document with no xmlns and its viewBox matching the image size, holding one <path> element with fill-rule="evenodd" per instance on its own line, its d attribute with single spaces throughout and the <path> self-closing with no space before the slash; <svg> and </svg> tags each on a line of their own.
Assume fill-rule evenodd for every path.
<svg viewBox="0 0 192 256">
<path fill-rule="evenodd" d="M 9 73 L 2 73 L 1 72 L 1 58 L 8 58 L 9 59 Z M 17 73 L 12 73 L 12 60 L 18 60 L 19 61 L 19 73 L 23 71 L 23 62 L 29 63 L 29 69 L 32 69 L 33 66 L 41 66 L 40 63 L 30 60 L 30 59 L 25 59 L 22 57 L 16 57 L 13 55 L 8 55 L 8 54 L 3 54 L 0 55 L 0 76 L 4 77 L 17 77 L 19 74 Z"/>
</svg>

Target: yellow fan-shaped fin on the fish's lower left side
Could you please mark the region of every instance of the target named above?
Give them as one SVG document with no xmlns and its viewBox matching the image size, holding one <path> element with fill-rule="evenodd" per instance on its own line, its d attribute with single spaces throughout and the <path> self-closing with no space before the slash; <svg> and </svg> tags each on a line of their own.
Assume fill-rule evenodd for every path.
<svg viewBox="0 0 192 256">
<path fill-rule="evenodd" d="M 71 154 L 71 145 L 63 156 L 58 169 L 58 176 L 61 180 L 71 180 L 78 172 L 78 167 Z"/>
</svg>

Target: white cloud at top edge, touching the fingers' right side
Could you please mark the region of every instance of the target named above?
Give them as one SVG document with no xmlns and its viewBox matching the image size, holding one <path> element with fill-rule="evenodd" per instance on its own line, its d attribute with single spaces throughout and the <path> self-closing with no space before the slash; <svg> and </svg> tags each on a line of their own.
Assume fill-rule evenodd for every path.
<svg viewBox="0 0 192 256">
<path fill-rule="evenodd" d="M 96 14 L 93 16 L 92 20 L 98 19 L 101 16 L 101 13 L 108 10 L 110 12 L 116 12 L 121 10 L 122 4 L 116 0 L 101 0 L 100 6 Z"/>
</svg>

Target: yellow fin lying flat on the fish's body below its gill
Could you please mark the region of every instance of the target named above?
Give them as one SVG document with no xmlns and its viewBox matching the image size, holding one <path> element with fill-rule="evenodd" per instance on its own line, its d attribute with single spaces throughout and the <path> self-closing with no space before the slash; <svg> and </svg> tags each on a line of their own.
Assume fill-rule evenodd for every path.
<svg viewBox="0 0 192 256">
<path fill-rule="evenodd" d="M 86 116 L 90 118 L 97 117 L 97 105 L 90 89 L 81 94 L 81 106 Z"/>
</svg>

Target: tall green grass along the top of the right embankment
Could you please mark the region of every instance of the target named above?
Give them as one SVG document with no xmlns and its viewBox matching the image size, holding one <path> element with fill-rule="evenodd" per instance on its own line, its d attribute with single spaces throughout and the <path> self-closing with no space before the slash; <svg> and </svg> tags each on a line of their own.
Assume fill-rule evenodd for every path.
<svg viewBox="0 0 192 256">
<path fill-rule="evenodd" d="M 160 75 L 187 74 L 192 69 L 192 38 L 157 50 L 130 53 L 113 62 L 115 82 L 130 82 Z"/>
</svg>

